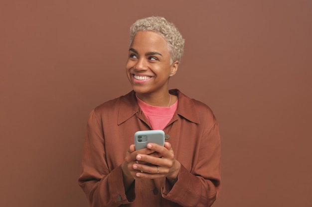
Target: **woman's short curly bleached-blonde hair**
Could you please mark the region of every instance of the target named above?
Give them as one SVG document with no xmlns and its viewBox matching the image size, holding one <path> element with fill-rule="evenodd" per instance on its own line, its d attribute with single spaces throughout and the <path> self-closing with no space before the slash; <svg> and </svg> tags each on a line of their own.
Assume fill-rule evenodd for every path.
<svg viewBox="0 0 312 207">
<path fill-rule="evenodd" d="M 182 35 L 173 23 L 168 22 L 164 17 L 161 16 L 151 16 L 139 19 L 130 27 L 129 45 L 131 45 L 134 36 L 139 31 L 154 31 L 161 35 L 168 43 L 171 62 L 180 62 L 184 51 L 185 40 L 182 38 Z"/>
</svg>

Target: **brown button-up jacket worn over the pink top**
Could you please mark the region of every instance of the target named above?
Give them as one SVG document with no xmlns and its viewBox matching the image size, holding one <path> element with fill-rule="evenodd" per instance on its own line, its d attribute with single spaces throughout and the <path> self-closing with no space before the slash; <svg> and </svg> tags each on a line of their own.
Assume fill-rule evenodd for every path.
<svg viewBox="0 0 312 207">
<path fill-rule="evenodd" d="M 163 131 L 181 163 L 177 182 L 171 188 L 165 178 L 143 179 L 124 190 L 121 163 L 134 134 L 151 130 L 132 91 L 90 113 L 78 182 L 91 207 L 209 207 L 215 201 L 221 188 L 218 123 L 205 104 L 177 89 L 170 93 L 178 106 Z"/>
</svg>

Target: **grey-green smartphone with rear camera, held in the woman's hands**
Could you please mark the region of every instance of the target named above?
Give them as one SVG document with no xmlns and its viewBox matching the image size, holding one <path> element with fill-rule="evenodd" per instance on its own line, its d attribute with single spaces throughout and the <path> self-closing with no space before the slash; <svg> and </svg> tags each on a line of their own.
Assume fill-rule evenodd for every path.
<svg viewBox="0 0 312 207">
<path fill-rule="evenodd" d="M 164 132 L 162 130 L 138 131 L 135 133 L 136 150 L 146 148 L 148 143 L 164 145 Z"/>
</svg>

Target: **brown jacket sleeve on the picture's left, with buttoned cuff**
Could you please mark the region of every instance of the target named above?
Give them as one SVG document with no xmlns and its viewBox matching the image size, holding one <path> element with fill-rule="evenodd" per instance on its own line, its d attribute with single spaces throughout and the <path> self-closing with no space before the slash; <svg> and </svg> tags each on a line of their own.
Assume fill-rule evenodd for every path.
<svg viewBox="0 0 312 207">
<path fill-rule="evenodd" d="M 106 162 L 102 121 L 94 109 L 89 115 L 82 157 L 82 173 L 78 184 L 87 196 L 90 207 L 118 207 L 129 204 L 123 184 L 121 165 L 110 171 Z M 134 199 L 132 199 L 134 200 Z"/>
</svg>

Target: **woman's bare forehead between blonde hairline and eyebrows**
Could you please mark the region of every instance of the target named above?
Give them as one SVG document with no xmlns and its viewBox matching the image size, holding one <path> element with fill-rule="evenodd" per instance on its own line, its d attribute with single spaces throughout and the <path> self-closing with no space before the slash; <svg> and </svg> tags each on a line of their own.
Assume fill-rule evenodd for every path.
<svg viewBox="0 0 312 207">
<path fill-rule="evenodd" d="M 137 32 L 133 38 L 130 48 L 133 48 L 139 52 L 169 53 L 166 40 L 161 35 L 153 31 Z"/>
</svg>

